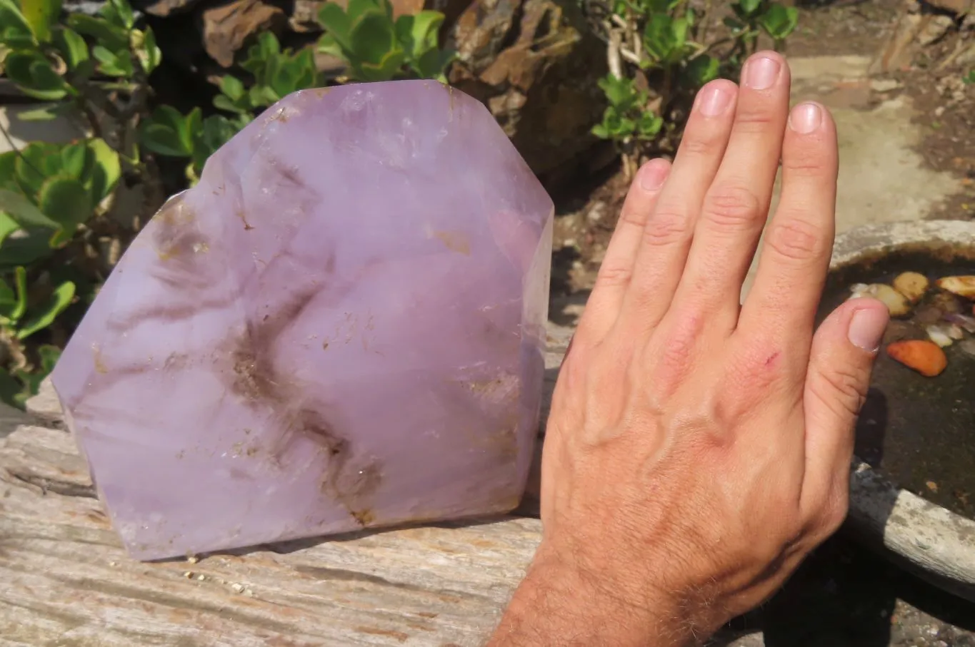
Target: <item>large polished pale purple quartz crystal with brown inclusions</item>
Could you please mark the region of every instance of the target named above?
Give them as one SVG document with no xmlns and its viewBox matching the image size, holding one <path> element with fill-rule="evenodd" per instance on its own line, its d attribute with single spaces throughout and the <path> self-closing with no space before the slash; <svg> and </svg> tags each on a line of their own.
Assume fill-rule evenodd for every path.
<svg viewBox="0 0 975 647">
<path fill-rule="evenodd" d="M 139 559 L 517 506 L 552 202 L 434 81 L 310 90 L 218 150 L 53 374 Z"/>
</svg>

